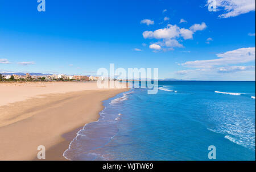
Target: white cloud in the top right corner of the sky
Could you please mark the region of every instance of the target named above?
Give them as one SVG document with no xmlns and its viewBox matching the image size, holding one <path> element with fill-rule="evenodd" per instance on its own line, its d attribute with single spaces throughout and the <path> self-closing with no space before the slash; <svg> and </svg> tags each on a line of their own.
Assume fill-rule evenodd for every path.
<svg viewBox="0 0 256 172">
<path fill-rule="evenodd" d="M 214 0 L 217 10 L 225 10 L 226 13 L 219 15 L 219 18 L 229 18 L 255 11 L 255 0 Z M 207 5 L 212 4 L 212 0 L 208 0 Z"/>
</svg>

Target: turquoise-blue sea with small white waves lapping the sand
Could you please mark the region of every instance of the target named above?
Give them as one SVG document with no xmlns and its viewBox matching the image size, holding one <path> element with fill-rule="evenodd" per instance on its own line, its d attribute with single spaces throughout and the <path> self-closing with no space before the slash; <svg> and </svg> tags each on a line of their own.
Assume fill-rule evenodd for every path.
<svg viewBox="0 0 256 172">
<path fill-rule="evenodd" d="M 85 102 L 86 103 L 86 102 Z M 69 160 L 255 160 L 255 82 L 159 81 L 104 101 Z"/>
</svg>

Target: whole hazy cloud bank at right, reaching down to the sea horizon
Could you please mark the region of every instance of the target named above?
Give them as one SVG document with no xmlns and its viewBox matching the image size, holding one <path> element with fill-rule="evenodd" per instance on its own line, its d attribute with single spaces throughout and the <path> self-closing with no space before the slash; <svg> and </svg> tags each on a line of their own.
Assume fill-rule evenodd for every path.
<svg viewBox="0 0 256 172">
<path fill-rule="evenodd" d="M 232 65 L 255 62 L 255 47 L 240 48 L 216 54 L 216 56 L 219 58 L 187 61 L 181 65 L 196 69 L 179 70 L 174 74 L 179 75 L 182 79 L 196 79 L 201 81 L 255 81 L 255 65 Z"/>
</svg>

